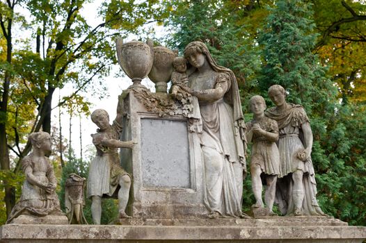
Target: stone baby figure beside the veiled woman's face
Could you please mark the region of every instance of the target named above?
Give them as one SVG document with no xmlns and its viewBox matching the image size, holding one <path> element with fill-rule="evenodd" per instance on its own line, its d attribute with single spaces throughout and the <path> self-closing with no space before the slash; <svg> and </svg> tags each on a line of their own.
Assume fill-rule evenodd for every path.
<svg viewBox="0 0 366 243">
<path fill-rule="evenodd" d="M 181 56 L 174 58 L 173 67 L 175 71 L 172 73 L 171 77 L 173 84 L 172 94 L 174 94 L 178 100 L 181 100 L 183 98 L 183 90 L 180 88 L 180 86 L 188 85 L 188 75 L 186 74 L 186 58 Z"/>
</svg>

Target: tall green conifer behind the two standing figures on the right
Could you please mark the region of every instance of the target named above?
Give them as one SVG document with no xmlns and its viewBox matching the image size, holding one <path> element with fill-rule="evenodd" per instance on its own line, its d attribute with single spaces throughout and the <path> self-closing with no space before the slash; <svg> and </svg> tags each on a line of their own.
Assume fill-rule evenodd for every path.
<svg viewBox="0 0 366 243">
<path fill-rule="evenodd" d="M 283 85 L 289 92 L 287 99 L 302 104 L 308 113 L 315 139 L 312 161 L 318 201 L 324 212 L 350 224 L 365 224 L 360 199 L 364 195 L 359 193 L 366 187 L 361 149 L 366 146 L 365 106 L 339 106 L 336 85 L 312 53 L 318 39 L 311 9 L 310 3 L 289 0 L 277 1 L 271 9 L 260 36 L 264 58 L 260 89 L 266 94 L 270 85 Z M 347 65 L 337 59 L 333 64 Z"/>
</svg>

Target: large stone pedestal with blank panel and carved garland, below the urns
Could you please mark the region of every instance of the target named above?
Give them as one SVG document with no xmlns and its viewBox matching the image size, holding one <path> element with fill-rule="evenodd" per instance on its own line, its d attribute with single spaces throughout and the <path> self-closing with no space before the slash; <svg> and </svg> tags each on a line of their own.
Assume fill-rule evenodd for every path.
<svg viewBox="0 0 366 243">
<path fill-rule="evenodd" d="M 184 108 L 168 94 L 130 90 L 125 96 L 122 167 L 132 176 L 127 214 L 134 218 L 205 217 L 200 142 Z M 169 110 L 169 107 L 172 108 Z"/>
</svg>

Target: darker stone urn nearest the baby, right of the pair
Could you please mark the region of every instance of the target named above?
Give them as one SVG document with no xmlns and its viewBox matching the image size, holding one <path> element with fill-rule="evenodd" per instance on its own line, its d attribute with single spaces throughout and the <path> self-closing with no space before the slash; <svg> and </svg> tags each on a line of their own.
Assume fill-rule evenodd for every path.
<svg viewBox="0 0 366 243">
<path fill-rule="evenodd" d="M 155 83 L 157 92 L 166 93 L 167 83 L 170 81 L 173 72 L 175 56 L 177 56 L 177 53 L 167 47 L 154 47 L 154 62 L 148 76 Z"/>
</svg>

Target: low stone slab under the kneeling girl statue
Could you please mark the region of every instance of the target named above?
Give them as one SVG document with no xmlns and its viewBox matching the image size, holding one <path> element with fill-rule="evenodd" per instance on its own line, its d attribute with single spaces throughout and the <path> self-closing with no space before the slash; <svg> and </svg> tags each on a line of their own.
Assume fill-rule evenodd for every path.
<svg viewBox="0 0 366 243">
<path fill-rule="evenodd" d="M 69 224 L 69 220 L 65 215 L 46 215 L 45 217 L 19 215 L 10 224 Z"/>
</svg>

